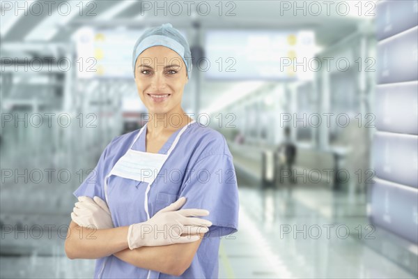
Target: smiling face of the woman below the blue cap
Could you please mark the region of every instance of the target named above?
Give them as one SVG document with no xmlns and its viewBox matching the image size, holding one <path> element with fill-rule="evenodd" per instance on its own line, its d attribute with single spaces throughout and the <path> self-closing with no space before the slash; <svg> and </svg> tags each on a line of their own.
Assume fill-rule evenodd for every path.
<svg viewBox="0 0 418 279">
<path fill-rule="evenodd" d="M 181 111 L 186 73 L 183 59 L 168 47 L 149 47 L 138 56 L 135 83 L 150 114 Z"/>
</svg>

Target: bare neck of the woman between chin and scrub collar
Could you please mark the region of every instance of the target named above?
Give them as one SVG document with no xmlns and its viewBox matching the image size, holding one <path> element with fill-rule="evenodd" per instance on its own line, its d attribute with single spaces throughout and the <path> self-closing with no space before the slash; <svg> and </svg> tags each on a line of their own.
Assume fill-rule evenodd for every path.
<svg viewBox="0 0 418 279">
<path fill-rule="evenodd" d="M 163 114 L 150 114 L 150 121 L 147 123 L 147 134 L 151 137 L 155 135 L 163 135 L 164 133 L 173 133 L 190 123 L 192 119 L 187 116 L 180 107 L 173 112 Z"/>
</svg>

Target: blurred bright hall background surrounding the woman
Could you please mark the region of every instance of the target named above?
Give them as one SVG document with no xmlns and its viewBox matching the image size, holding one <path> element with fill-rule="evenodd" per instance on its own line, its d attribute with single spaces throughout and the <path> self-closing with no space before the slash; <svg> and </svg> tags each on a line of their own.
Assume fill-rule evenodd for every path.
<svg viewBox="0 0 418 279">
<path fill-rule="evenodd" d="M 1 278 L 91 278 L 72 192 L 146 109 L 141 32 L 170 22 L 183 108 L 240 190 L 220 278 L 417 278 L 417 1 L 1 1 Z"/>
</svg>

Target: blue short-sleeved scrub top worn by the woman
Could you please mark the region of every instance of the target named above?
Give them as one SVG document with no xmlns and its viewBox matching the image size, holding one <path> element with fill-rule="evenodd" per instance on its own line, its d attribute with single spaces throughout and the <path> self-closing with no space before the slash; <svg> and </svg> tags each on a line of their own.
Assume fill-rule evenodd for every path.
<svg viewBox="0 0 418 279">
<path fill-rule="evenodd" d="M 158 153 L 166 154 L 180 132 L 178 129 Z M 115 137 L 104 149 L 98 165 L 74 195 L 98 196 L 104 200 L 104 177 L 134 141 L 139 133 Z M 145 149 L 146 130 L 132 146 L 137 151 Z M 148 183 L 110 176 L 108 180 L 108 206 L 115 227 L 147 220 L 144 210 L 145 190 Z M 150 217 L 176 201 L 187 200 L 182 209 L 207 209 L 212 226 L 201 241 L 192 264 L 182 276 L 170 276 L 150 271 L 150 278 L 217 278 L 218 252 L 221 236 L 233 234 L 238 229 L 238 186 L 233 158 L 224 136 L 216 130 L 192 123 L 180 136 L 178 144 L 164 163 L 148 193 Z M 96 260 L 95 278 L 147 278 L 148 270 L 114 257 Z"/>
</svg>

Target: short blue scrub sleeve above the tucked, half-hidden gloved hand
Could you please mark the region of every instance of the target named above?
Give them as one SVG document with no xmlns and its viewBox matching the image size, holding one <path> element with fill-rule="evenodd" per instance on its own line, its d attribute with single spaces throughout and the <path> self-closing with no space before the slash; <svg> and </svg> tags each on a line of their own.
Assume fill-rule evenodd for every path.
<svg viewBox="0 0 418 279">
<path fill-rule="evenodd" d="M 74 191 L 73 195 L 75 195 L 75 197 L 87 196 L 93 198 L 94 196 L 98 196 L 100 199 L 105 199 L 103 190 L 104 176 L 106 176 L 105 161 L 107 159 L 110 145 L 111 144 L 106 146 L 100 156 L 98 164 L 88 174 L 79 188 Z"/>
</svg>

